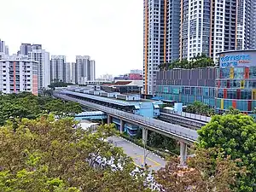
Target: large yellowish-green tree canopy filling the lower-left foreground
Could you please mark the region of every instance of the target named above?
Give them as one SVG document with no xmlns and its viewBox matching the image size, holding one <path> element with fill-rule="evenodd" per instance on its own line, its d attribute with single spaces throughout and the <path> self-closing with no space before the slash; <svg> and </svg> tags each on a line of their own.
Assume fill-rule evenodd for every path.
<svg viewBox="0 0 256 192">
<path fill-rule="evenodd" d="M 21 119 L 14 131 L 11 121 L 0 129 L 1 191 L 150 191 L 144 177 L 132 177 L 131 158 L 106 142 L 113 125 L 94 133 L 73 128 L 73 119 L 55 120 L 53 115 Z M 101 168 L 97 157 L 113 159 L 122 167 Z"/>
</svg>

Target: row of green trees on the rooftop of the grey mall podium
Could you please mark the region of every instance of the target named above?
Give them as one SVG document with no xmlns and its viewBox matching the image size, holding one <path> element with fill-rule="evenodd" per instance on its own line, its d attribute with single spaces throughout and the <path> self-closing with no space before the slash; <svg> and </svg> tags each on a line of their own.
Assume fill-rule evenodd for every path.
<svg viewBox="0 0 256 192">
<path fill-rule="evenodd" d="M 163 63 L 160 64 L 159 68 L 161 70 L 166 69 L 173 69 L 173 68 L 184 68 L 184 69 L 191 69 L 191 68 L 199 68 L 199 67 L 215 67 L 215 63 L 212 58 L 207 57 L 207 55 L 196 55 L 191 61 L 187 59 L 183 59 L 181 61 L 172 61 L 170 63 Z"/>
</svg>

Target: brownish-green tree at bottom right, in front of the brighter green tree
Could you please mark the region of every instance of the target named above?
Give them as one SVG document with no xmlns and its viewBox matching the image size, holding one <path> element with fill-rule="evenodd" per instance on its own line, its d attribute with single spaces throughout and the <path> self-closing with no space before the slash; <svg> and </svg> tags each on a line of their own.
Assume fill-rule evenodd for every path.
<svg viewBox="0 0 256 192">
<path fill-rule="evenodd" d="M 188 160 L 189 166 L 179 166 L 179 160 L 171 158 L 155 178 L 166 192 L 231 192 L 236 191 L 237 174 L 246 174 L 236 162 L 241 160 L 225 158 L 217 148 L 197 149 L 195 157 Z"/>
</svg>

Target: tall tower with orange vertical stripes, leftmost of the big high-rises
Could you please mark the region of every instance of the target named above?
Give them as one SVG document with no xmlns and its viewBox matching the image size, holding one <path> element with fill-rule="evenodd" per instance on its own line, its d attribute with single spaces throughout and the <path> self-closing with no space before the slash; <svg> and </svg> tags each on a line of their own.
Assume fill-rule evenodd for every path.
<svg viewBox="0 0 256 192">
<path fill-rule="evenodd" d="M 143 90 L 154 95 L 160 64 L 179 58 L 180 0 L 144 0 Z"/>
</svg>

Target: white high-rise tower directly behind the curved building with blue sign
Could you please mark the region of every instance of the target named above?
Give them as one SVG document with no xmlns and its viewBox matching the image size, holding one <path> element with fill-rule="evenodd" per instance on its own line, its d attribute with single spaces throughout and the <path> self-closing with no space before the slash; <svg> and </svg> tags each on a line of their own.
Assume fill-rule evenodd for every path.
<svg viewBox="0 0 256 192">
<path fill-rule="evenodd" d="M 255 0 L 214 0 L 211 15 L 210 56 L 215 61 L 218 52 L 255 47 Z"/>
</svg>

